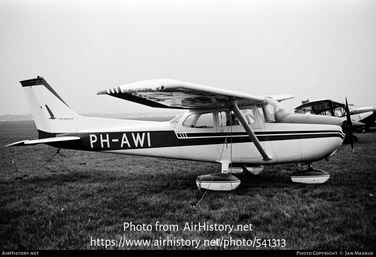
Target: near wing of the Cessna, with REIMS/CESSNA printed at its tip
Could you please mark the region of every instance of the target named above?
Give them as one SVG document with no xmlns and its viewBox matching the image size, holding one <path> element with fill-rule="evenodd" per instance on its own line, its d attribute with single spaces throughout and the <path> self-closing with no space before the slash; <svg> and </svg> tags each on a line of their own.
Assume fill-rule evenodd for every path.
<svg viewBox="0 0 376 257">
<path fill-rule="evenodd" d="M 99 91 L 131 102 L 158 108 L 206 109 L 225 107 L 238 100 L 238 106 L 265 101 L 264 97 L 237 91 L 208 87 L 172 79 L 139 81 Z"/>
</svg>

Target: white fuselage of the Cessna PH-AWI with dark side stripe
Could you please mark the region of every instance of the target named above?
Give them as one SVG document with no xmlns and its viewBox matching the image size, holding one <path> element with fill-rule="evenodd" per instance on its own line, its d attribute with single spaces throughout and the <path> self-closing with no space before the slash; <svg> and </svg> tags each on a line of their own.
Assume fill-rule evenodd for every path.
<svg viewBox="0 0 376 257">
<path fill-rule="evenodd" d="M 131 126 L 59 134 L 81 140 L 50 145 L 182 160 L 268 165 L 321 160 L 334 154 L 344 138 L 342 129 L 336 125 L 265 121 L 257 106 L 247 106 L 241 111 L 265 151 L 273 157 L 272 161 L 262 161 L 243 126 L 225 108 L 191 110 L 170 122 L 133 121 Z M 290 115 L 296 114 L 287 116 Z"/>
</svg>

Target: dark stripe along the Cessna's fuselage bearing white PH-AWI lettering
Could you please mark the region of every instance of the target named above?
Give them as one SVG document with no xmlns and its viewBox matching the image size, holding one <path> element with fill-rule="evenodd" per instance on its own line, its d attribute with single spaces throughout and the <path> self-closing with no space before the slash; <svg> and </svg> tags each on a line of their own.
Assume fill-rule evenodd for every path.
<svg viewBox="0 0 376 257">
<path fill-rule="evenodd" d="M 247 143 L 251 139 L 246 132 L 175 133 L 174 131 L 135 131 L 102 133 L 66 133 L 61 136 L 77 136 L 81 140 L 61 142 L 53 146 L 87 151 L 111 151 L 144 148 L 170 148 L 226 143 Z M 340 137 L 340 131 L 284 131 L 255 132 L 259 141 L 297 140 L 309 138 Z M 58 145 L 58 146 L 56 146 Z"/>
</svg>

